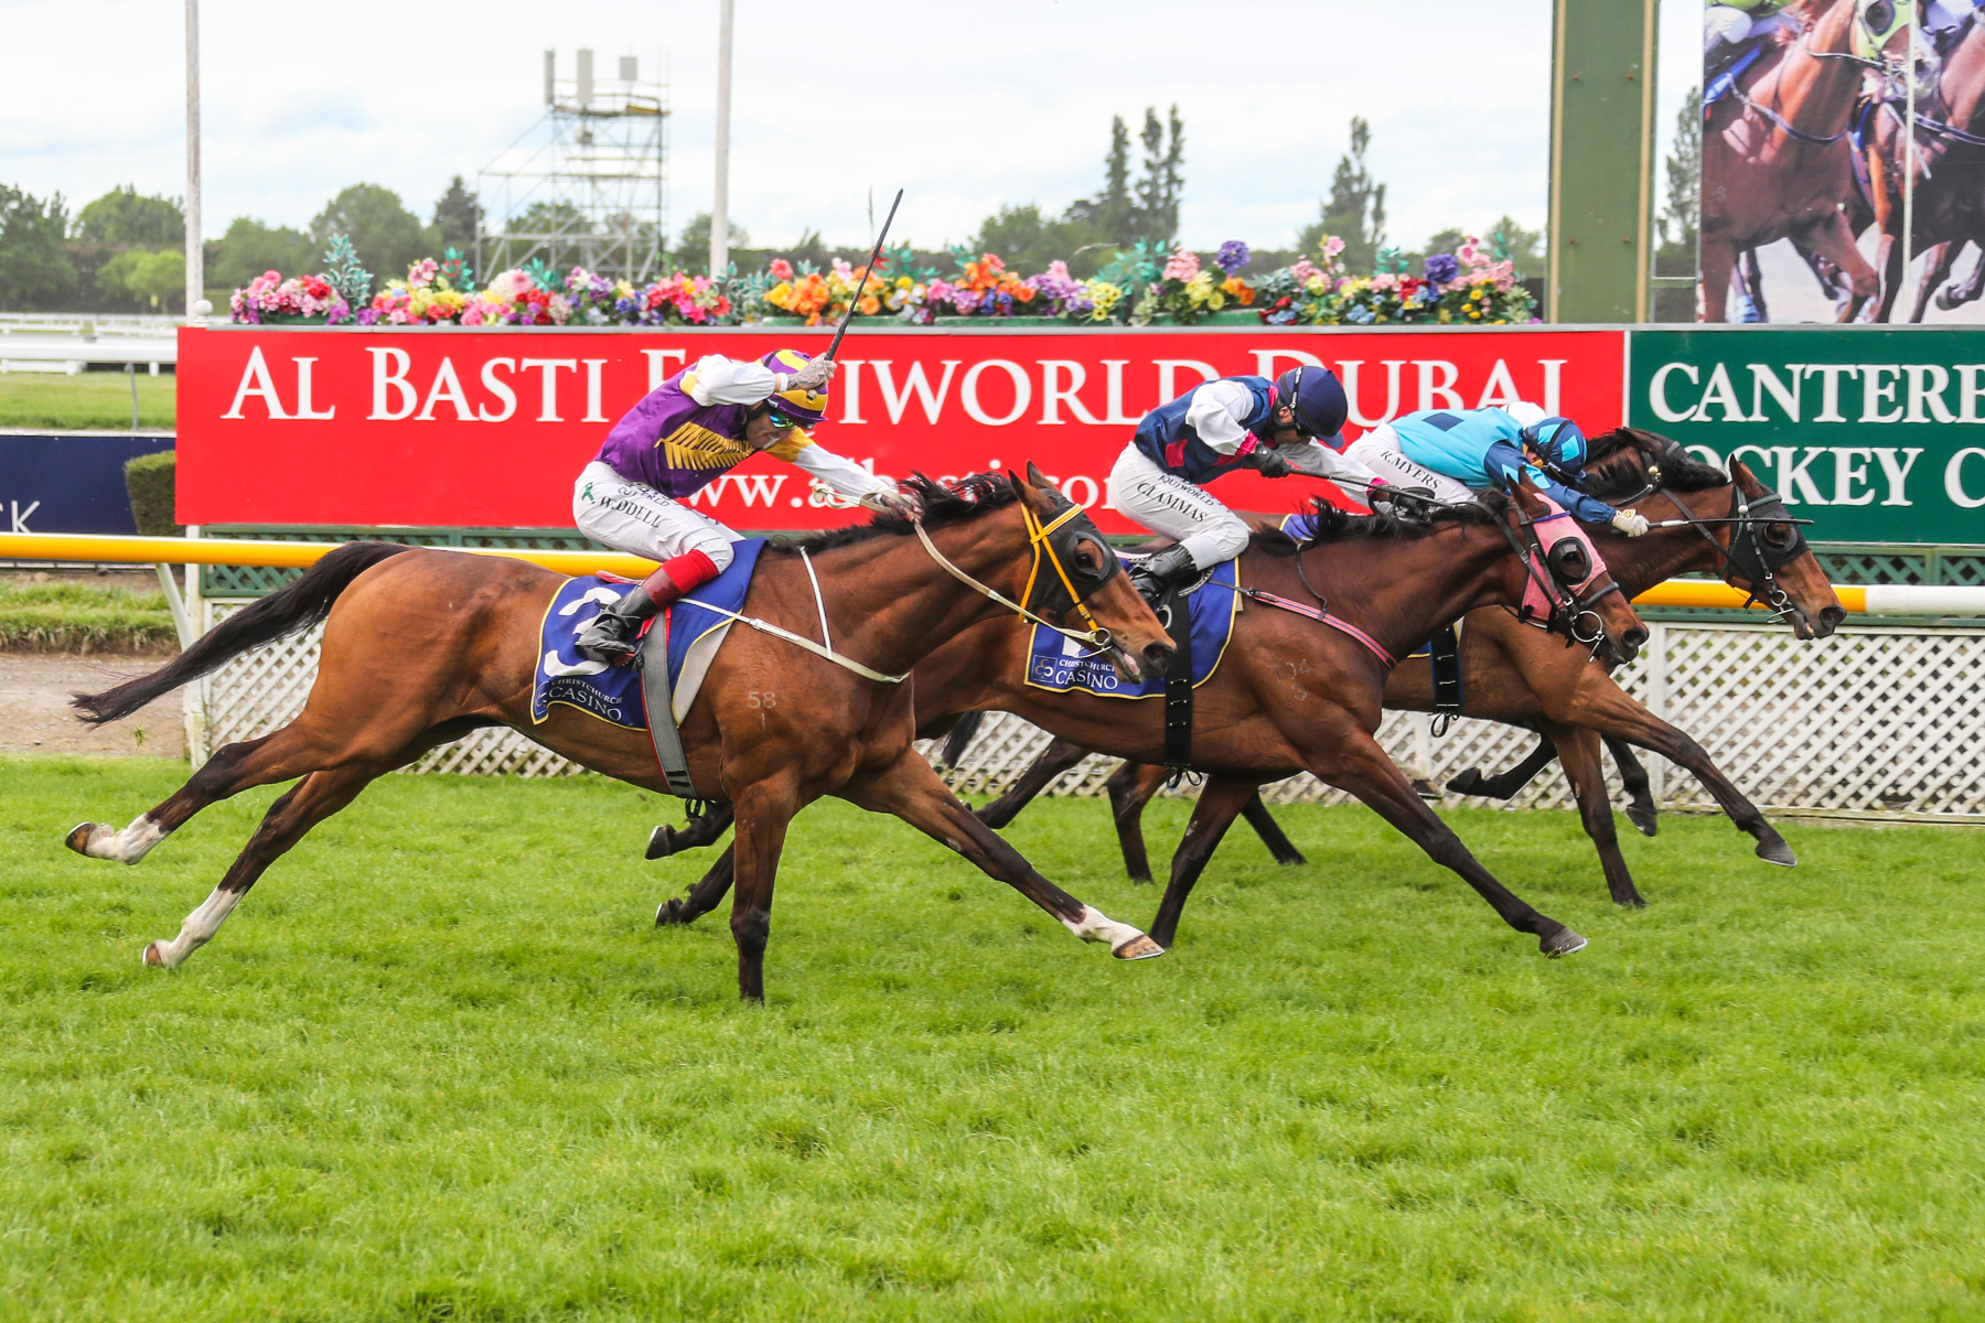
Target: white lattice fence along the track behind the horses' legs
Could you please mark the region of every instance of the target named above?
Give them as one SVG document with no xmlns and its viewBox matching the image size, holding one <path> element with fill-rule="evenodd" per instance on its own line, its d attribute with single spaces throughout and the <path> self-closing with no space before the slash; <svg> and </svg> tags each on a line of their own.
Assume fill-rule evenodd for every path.
<svg viewBox="0 0 1985 1323">
<path fill-rule="evenodd" d="M 242 603 L 210 601 L 212 627 Z M 1642 659 L 1620 672 L 1636 698 L 1709 752 L 1765 809 L 1985 813 L 1985 631 L 1846 629 L 1824 643 L 1796 643 L 1769 627 L 1654 625 Z M 222 666 L 200 684 L 204 732 L 195 758 L 296 718 L 316 678 L 316 631 Z M 197 726 L 198 716 L 193 718 Z M 206 738 L 200 738 L 204 734 Z M 1503 770 L 1536 736 L 1495 722 L 1461 720 L 1445 738 L 1423 716 L 1390 712 L 1380 742 L 1411 776 L 1443 785 L 1467 768 Z M 1040 754 L 1048 734 L 991 714 L 965 758 L 947 772 L 961 793 L 998 793 Z M 1715 807 L 1695 778 L 1648 756 L 1657 799 L 1669 809 Z M 411 772 L 572 776 L 574 764 L 512 730 L 478 730 L 417 762 Z M 1094 795 L 1116 760 L 1090 758 L 1048 793 Z M 1608 783 L 1618 774 L 1608 760 Z M 1276 803 L 1342 803 L 1308 776 L 1266 791 Z M 1471 803 L 1485 803 L 1473 799 Z M 1556 766 L 1511 807 L 1570 807 Z"/>
</svg>

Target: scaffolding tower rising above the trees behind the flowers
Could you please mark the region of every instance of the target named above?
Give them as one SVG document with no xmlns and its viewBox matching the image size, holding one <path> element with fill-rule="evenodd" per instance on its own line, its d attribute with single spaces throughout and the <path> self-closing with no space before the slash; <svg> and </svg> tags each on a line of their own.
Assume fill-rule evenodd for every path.
<svg viewBox="0 0 1985 1323">
<path fill-rule="evenodd" d="M 540 260 L 637 284 L 663 274 L 669 85 L 643 83 L 637 56 L 621 56 L 617 73 L 596 81 L 594 52 L 582 50 L 562 79 L 558 52 L 544 52 L 544 117 L 476 173 L 492 218 L 476 236 L 476 272 Z"/>
</svg>

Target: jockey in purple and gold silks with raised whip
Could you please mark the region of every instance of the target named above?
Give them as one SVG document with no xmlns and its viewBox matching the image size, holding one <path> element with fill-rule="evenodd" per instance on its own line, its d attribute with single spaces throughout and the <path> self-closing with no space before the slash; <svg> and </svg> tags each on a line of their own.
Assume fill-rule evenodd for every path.
<svg viewBox="0 0 1985 1323">
<path fill-rule="evenodd" d="M 709 353 L 627 411 L 572 490 L 580 532 L 615 551 L 661 561 L 639 587 L 580 635 L 594 661 L 633 655 L 641 621 L 703 587 L 730 565 L 742 541 L 683 504 L 758 450 L 768 450 L 869 510 L 909 510 L 909 498 L 860 464 L 814 444 L 838 365 L 798 349 L 756 363 Z"/>
</svg>

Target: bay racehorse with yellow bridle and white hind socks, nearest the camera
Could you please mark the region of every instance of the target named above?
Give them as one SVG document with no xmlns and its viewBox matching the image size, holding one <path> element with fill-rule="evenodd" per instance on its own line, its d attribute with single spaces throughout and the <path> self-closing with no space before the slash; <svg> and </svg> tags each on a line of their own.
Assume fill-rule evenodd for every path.
<svg viewBox="0 0 1985 1323">
<path fill-rule="evenodd" d="M 1133 678 L 1171 657 L 1163 627 L 1090 518 L 1032 466 L 1026 482 L 979 474 L 957 490 L 921 478 L 909 488 L 923 502 L 921 520 L 877 516 L 764 551 L 742 605 L 758 625 L 730 631 L 681 728 L 695 789 L 728 799 L 736 813 L 730 932 L 738 992 L 748 1000 L 764 1000 L 786 823 L 820 795 L 895 813 L 1076 936 L 1108 942 L 1118 958 L 1163 954 L 1139 930 L 1044 879 L 971 815 L 913 748 L 911 686 L 895 682 L 949 637 L 1014 605 L 1094 619 L 1098 627 L 1082 637 Z M 179 936 L 145 948 L 145 962 L 183 962 L 312 825 L 377 776 L 480 726 L 510 726 L 596 772 L 667 793 L 647 734 L 570 706 L 532 722 L 540 621 L 564 581 L 524 561 L 349 543 L 222 621 L 163 670 L 79 694 L 83 720 L 115 720 L 248 649 L 324 621 L 318 680 L 302 716 L 220 748 L 179 793 L 123 831 L 83 823 L 69 833 L 77 853 L 137 863 L 208 803 L 304 778 L 276 799 Z M 832 643 L 816 655 L 760 627 L 802 643 L 818 627 Z M 828 657 L 834 649 L 840 661 Z"/>
</svg>

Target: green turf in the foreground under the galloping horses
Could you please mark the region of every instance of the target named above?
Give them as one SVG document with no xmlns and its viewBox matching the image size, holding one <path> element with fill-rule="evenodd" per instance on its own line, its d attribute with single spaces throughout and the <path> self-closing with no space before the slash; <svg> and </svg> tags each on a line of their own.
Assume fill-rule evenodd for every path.
<svg viewBox="0 0 1985 1323">
<path fill-rule="evenodd" d="M 1362 809 L 1231 839 L 1118 964 L 909 829 L 794 829 L 770 1006 L 601 780 L 389 778 L 185 968 L 274 791 L 141 869 L 175 764 L 0 764 L 0 1311 L 22 1319 L 1977 1319 L 1979 837 Z M 1169 843 L 1181 805 L 1151 813 Z M 1245 827 L 1241 829 L 1245 831 Z M 1008 833 L 1143 922 L 1102 805 Z"/>
</svg>

